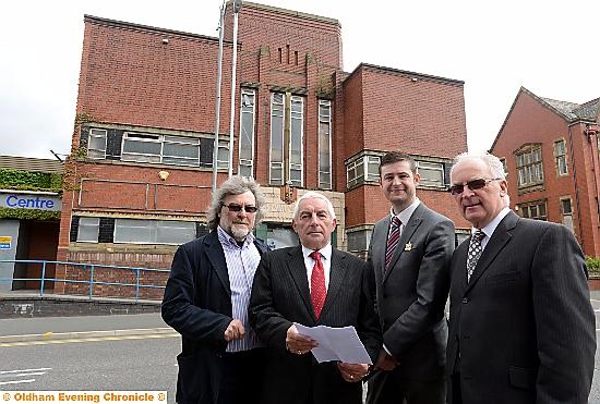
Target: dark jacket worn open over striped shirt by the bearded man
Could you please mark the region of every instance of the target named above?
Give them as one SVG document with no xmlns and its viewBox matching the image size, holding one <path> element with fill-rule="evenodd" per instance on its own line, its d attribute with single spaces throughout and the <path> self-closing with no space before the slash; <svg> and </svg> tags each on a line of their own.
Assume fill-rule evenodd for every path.
<svg viewBox="0 0 600 404">
<path fill-rule="evenodd" d="M 261 254 L 266 250 L 262 242 L 255 245 Z M 229 274 L 216 231 L 178 248 L 161 311 L 181 334 L 177 402 L 216 403 L 227 347 L 224 333 L 232 320 Z"/>
</svg>

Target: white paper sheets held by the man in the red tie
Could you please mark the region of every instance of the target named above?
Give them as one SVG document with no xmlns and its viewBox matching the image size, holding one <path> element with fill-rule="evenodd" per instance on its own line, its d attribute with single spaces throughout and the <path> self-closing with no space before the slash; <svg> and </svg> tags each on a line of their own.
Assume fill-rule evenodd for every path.
<svg viewBox="0 0 600 404">
<path fill-rule="evenodd" d="M 340 360 L 347 364 L 372 365 L 371 357 L 352 326 L 333 328 L 327 326 L 305 327 L 297 322 L 293 325 L 300 334 L 310 336 L 319 343 L 317 347 L 311 350 L 319 363 Z"/>
</svg>

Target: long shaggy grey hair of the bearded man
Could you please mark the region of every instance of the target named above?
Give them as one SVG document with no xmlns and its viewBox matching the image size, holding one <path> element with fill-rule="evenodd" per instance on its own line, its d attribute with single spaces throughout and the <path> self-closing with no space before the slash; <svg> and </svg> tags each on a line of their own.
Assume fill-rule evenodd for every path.
<svg viewBox="0 0 600 404">
<path fill-rule="evenodd" d="M 219 212 L 225 205 L 225 198 L 229 195 L 241 195 L 251 192 L 256 199 L 256 216 L 254 224 L 259 224 L 264 217 L 265 197 L 261 191 L 261 185 L 249 176 L 233 175 L 225 181 L 217 191 L 213 194 L 211 208 L 206 213 L 208 220 L 208 230 L 215 230 L 220 221 Z"/>
</svg>

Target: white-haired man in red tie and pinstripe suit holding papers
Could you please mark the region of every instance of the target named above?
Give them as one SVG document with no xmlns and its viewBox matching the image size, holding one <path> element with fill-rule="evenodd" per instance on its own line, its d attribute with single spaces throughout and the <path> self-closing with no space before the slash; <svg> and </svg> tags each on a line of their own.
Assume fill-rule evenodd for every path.
<svg viewBox="0 0 600 404">
<path fill-rule="evenodd" d="M 315 342 L 303 326 L 353 326 L 372 360 L 381 346 L 373 307 L 372 273 L 364 261 L 333 248 L 332 203 L 322 194 L 302 195 L 292 227 L 300 244 L 263 256 L 250 298 L 250 323 L 267 345 L 262 404 L 361 404 L 368 364 L 319 364 Z"/>
</svg>

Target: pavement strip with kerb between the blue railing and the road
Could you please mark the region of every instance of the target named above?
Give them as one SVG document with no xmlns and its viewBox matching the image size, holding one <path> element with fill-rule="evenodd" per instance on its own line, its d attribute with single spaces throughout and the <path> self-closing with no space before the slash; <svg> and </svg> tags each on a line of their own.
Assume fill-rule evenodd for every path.
<svg viewBox="0 0 600 404">
<path fill-rule="evenodd" d="M 172 334 L 159 313 L 0 319 L 0 344 L 100 336 Z"/>
</svg>

